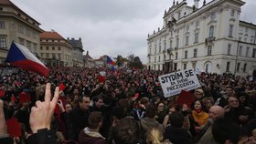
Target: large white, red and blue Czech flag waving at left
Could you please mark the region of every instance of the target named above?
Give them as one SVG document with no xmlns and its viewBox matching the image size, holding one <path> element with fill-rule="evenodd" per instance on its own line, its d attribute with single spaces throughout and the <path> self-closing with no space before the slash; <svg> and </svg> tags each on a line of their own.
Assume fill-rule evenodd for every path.
<svg viewBox="0 0 256 144">
<path fill-rule="evenodd" d="M 48 67 L 35 57 L 27 47 L 14 42 L 7 54 L 6 62 L 9 62 L 16 67 L 20 67 L 28 71 L 34 71 L 44 77 L 48 77 Z"/>
</svg>

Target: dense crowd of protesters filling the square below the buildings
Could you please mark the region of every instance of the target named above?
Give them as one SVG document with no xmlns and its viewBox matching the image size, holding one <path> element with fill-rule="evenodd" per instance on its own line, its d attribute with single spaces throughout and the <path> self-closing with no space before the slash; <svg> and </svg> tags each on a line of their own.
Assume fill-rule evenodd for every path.
<svg viewBox="0 0 256 144">
<path fill-rule="evenodd" d="M 48 77 L 0 76 L 0 144 L 256 143 L 255 79 L 199 74 L 187 106 L 164 97 L 162 71 L 50 69 Z M 19 136 L 9 133 L 10 119 Z"/>
</svg>

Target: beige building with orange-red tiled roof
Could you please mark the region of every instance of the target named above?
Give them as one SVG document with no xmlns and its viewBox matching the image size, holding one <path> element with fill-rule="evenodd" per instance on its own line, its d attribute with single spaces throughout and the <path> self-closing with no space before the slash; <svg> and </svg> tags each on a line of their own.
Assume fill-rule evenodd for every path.
<svg viewBox="0 0 256 144">
<path fill-rule="evenodd" d="M 40 34 L 40 53 L 47 66 L 73 67 L 73 47 L 55 31 Z"/>
</svg>

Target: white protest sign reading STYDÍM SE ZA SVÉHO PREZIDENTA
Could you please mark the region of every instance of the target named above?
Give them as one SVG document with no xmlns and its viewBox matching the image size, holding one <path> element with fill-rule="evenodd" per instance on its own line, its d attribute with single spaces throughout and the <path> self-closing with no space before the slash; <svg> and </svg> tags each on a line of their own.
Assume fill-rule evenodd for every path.
<svg viewBox="0 0 256 144">
<path fill-rule="evenodd" d="M 182 89 L 192 90 L 201 87 L 197 75 L 192 69 L 177 71 L 158 78 L 165 98 L 179 94 Z"/>
</svg>

